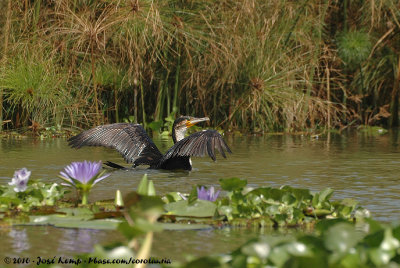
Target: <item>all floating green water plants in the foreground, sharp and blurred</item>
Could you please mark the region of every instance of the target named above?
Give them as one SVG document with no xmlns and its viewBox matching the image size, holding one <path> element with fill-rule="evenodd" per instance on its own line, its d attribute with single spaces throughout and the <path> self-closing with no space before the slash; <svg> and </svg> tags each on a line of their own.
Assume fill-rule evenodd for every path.
<svg viewBox="0 0 400 268">
<path fill-rule="evenodd" d="M 136 263 L 135 267 L 157 261 L 163 262 L 163 267 L 396 267 L 400 264 L 400 226 L 370 219 L 369 212 L 356 207 L 352 200 L 331 201 L 330 189 L 314 194 L 287 186 L 250 189 L 245 180 L 231 178 L 220 180 L 224 197 L 218 197 L 219 192 L 214 188 L 198 186 L 190 194 L 172 192 L 160 197 L 153 181 L 145 175 L 137 192 L 127 194 L 123 201 L 117 193 L 115 202 L 77 206 L 63 199 L 61 186 L 28 183 L 29 176 L 26 169 L 19 170 L 14 174 L 14 184 L 1 186 L 2 225 L 118 229 L 126 237 L 127 242 L 97 245 L 94 252 L 77 256 L 86 260 L 82 267 L 99 267 L 101 262 L 88 260 L 115 258 L 116 251 L 120 259 L 147 261 Z M 17 184 L 17 180 L 26 183 Z M 150 258 L 154 232 L 223 225 L 308 228 L 306 233 L 262 236 L 231 253 L 187 263 Z M 53 266 L 49 262 L 42 267 Z"/>
</svg>

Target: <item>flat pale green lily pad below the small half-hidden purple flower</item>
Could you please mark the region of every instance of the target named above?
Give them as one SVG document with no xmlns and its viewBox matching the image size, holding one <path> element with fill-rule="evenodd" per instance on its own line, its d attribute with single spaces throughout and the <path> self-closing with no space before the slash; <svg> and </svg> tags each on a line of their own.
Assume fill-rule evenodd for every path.
<svg viewBox="0 0 400 268">
<path fill-rule="evenodd" d="M 217 206 L 206 200 L 196 200 L 193 204 L 189 204 L 187 200 L 182 200 L 165 204 L 164 208 L 168 214 L 176 216 L 212 217 Z"/>
</svg>

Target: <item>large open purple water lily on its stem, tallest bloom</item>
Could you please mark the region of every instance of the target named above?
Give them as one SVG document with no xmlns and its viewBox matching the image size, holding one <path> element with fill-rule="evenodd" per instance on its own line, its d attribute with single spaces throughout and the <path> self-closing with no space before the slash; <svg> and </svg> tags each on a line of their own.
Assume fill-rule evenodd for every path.
<svg viewBox="0 0 400 268">
<path fill-rule="evenodd" d="M 93 185 L 104 180 L 110 174 L 105 174 L 101 170 L 100 162 L 72 162 L 60 172 L 60 177 L 68 186 L 73 186 L 79 190 L 82 195 L 82 204 L 87 204 L 89 191 Z"/>
</svg>

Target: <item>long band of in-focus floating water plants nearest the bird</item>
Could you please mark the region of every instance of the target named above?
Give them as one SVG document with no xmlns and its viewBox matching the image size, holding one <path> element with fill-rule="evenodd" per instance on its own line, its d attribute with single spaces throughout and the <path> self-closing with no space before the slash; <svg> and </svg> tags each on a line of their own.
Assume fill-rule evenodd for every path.
<svg viewBox="0 0 400 268">
<path fill-rule="evenodd" d="M 95 175 L 97 178 L 98 174 Z M 161 212 L 152 219 L 152 222 L 158 220 L 161 227 L 168 228 L 170 228 L 170 223 L 182 226 L 181 224 L 188 222 L 193 226 L 199 224 L 207 228 L 224 225 L 271 229 L 312 228 L 322 219 L 339 218 L 353 221 L 369 215 L 369 212 L 358 207 L 354 200 L 331 201 L 333 193 L 331 189 L 314 194 L 306 189 L 289 186 L 283 186 L 280 189 L 270 187 L 251 189 L 246 187 L 246 180 L 238 178 L 221 179 L 220 185 L 226 191 L 225 197 L 219 197 L 219 193 L 214 194 L 213 187 L 208 190 L 202 187 L 200 190 L 198 186 L 194 186 L 190 194 L 171 192 L 164 196 L 157 196 L 153 181 L 149 181 L 145 175 L 138 185 L 137 192 L 127 194 L 124 200 L 120 200 L 120 193 L 117 192 L 115 200 L 98 201 L 76 207 L 79 200 L 71 203 L 71 200 L 65 199 L 66 190 L 63 186 L 56 183 L 29 181 L 26 188 L 22 189 L 14 185 L 1 186 L 0 213 L 3 213 L 2 220 L 16 220 L 10 221 L 14 223 L 18 222 L 18 219 L 14 217 L 21 214 L 30 216 L 30 221 L 27 223 L 30 225 L 52 224 L 59 227 L 75 227 L 80 223 L 82 226 L 92 228 L 101 229 L 104 226 L 115 228 L 115 222 L 107 225 L 103 221 L 96 220 L 121 217 L 122 208 L 129 208 L 140 200 L 143 201 L 144 196 L 148 196 L 151 200 L 158 200 L 157 202 L 162 207 Z M 17 190 L 21 191 L 16 192 Z M 200 191 L 203 194 L 200 194 Z M 207 192 L 208 196 L 205 196 L 204 193 Z M 80 194 L 77 197 L 83 198 Z M 30 215 L 31 212 L 34 212 L 34 216 Z M 128 223 L 141 214 L 140 211 L 135 213 L 132 214 Z M 51 215 L 38 217 L 41 214 Z M 124 216 L 126 218 L 126 213 Z M 25 218 L 23 222 L 26 223 Z M 187 227 L 184 228 L 187 229 Z"/>
</svg>

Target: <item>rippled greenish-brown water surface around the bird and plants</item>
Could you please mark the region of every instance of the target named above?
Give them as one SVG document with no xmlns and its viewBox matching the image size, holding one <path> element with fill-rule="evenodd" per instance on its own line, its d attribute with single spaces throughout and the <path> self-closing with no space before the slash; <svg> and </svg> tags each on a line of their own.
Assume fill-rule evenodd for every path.
<svg viewBox="0 0 400 268">
<path fill-rule="evenodd" d="M 191 172 L 146 170 L 114 171 L 96 185 L 91 200 L 113 198 L 115 190 L 134 190 L 144 173 L 154 180 L 159 194 L 188 192 L 193 185 L 217 186 L 219 178 L 247 179 L 250 186 L 291 185 L 320 191 L 335 190 L 334 198 L 354 198 L 380 221 L 400 220 L 399 134 L 382 136 L 362 134 L 320 137 L 271 135 L 226 137 L 233 151 L 217 162 L 193 159 Z M 63 139 L 0 141 L 0 183 L 7 183 L 14 170 L 26 167 L 32 178 L 58 181 L 65 165 L 80 160 L 110 160 L 123 163 L 120 155 L 106 148 L 70 149 Z M 170 141 L 155 140 L 161 151 Z M 74 256 L 90 252 L 96 243 L 123 239 L 115 231 L 60 229 L 42 227 L 0 227 L 0 257 Z M 261 232 L 269 232 L 262 230 Z M 152 255 L 183 260 L 185 255 L 202 256 L 228 252 L 248 238 L 252 230 L 229 228 L 200 231 L 164 231 L 155 235 Z M 0 259 L 1 260 L 1 259 Z"/>
</svg>

